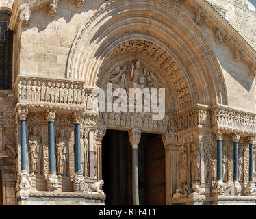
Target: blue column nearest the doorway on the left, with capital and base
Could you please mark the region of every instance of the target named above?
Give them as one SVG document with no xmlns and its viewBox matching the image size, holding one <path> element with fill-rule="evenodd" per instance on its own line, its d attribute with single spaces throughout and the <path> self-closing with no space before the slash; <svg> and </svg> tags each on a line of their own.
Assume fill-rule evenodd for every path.
<svg viewBox="0 0 256 219">
<path fill-rule="evenodd" d="M 80 142 L 80 125 L 83 119 L 83 113 L 74 113 L 75 124 L 75 176 L 73 178 L 73 191 L 84 192 L 88 185 L 84 181 L 84 176 L 81 173 L 81 142 Z M 87 185 L 87 188 L 86 188 Z"/>
</svg>

